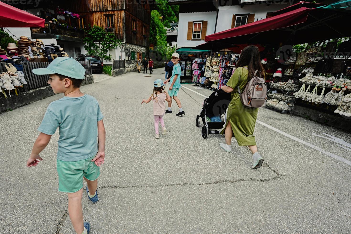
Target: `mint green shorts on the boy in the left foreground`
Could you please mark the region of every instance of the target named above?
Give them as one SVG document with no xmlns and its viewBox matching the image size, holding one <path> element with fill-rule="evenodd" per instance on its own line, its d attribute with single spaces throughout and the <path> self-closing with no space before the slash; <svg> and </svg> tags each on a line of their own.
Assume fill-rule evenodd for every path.
<svg viewBox="0 0 351 234">
<path fill-rule="evenodd" d="M 100 167 L 91 160 L 95 156 L 67 162 L 57 160 L 57 172 L 59 174 L 59 191 L 64 193 L 75 193 L 83 187 L 83 176 L 88 180 L 96 180 L 100 175 Z"/>
</svg>

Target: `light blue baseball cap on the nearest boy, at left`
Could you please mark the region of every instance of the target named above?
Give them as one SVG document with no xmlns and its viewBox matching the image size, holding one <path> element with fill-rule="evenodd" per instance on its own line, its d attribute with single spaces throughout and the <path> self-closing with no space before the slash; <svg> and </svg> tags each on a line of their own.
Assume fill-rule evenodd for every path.
<svg viewBox="0 0 351 234">
<path fill-rule="evenodd" d="M 60 74 L 74 79 L 85 79 L 85 68 L 75 59 L 58 57 L 54 59 L 46 68 L 35 68 L 33 73 L 37 75 Z"/>
</svg>

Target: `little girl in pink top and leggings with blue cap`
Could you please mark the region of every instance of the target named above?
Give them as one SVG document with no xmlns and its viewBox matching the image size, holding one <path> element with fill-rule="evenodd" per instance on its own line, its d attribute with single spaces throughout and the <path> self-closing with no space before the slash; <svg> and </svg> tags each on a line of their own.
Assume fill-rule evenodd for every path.
<svg viewBox="0 0 351 234">
<path fill-rule="evenodd" d="M 163 116 L 165 114 L 166 101 L 170 102 L 171 97 L 165 91 L 164 83 L 161 79 L 157 79 L 154 81 L 154 90 L 150 97 L 146 100 L 143 99 L 141 104 L 148 103 L 153 101 L 153 110 L 154 110 L 154 121 L 155 121 L 155 138 L 159 139 L 158 132 L 158 123 L 161 123 L 162 126 L 162 135 L 167 133 L 167 129 L 165 127 L 165 122 L 163 121 Z"/>
</svg>

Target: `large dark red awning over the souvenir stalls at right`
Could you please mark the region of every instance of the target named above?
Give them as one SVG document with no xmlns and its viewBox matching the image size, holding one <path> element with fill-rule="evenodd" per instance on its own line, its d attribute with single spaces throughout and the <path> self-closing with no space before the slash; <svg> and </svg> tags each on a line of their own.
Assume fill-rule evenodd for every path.
<svg viewBox="0 0 351 234">
<path fill-rule="evenodd" d="M 351 30 L 342 22 L 351 21 L 350 13 L 300 7 L 251 24 L 206 36 L 206 42 L 226 44 L 291 45 L 347 37 Z"/>
</svg>

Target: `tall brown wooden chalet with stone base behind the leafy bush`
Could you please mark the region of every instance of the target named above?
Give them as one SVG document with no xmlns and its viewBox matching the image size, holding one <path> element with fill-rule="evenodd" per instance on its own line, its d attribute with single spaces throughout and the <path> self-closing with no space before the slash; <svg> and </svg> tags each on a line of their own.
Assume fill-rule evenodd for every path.
<svg viewBox="0 0 351 234">
<path fill-rule="evenodd" d="M 124 43 L 121 48 L 110 51 L 110 55 L 112 59 L 126 59 L 127 66 L 128 63 L 135 65 L 133 60 L 146 56 L 153 4 L 154 0 L 64 0 L 60 7 L 78 13 L 81 28 L 98 25 L 114 32 Z"/>
</svg>

